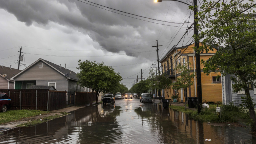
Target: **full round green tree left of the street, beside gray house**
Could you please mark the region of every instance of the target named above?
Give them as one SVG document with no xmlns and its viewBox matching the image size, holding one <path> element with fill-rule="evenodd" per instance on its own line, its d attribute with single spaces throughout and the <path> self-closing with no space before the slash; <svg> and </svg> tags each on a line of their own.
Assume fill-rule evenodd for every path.
<svg viewBox="0 0 256 144">
<path fill-rule="evenodd" d="M 116 73 L 110 66 L 106 66 L 103 62 L 96 63 L 89 60 L 78 61 L 78 83 L 81 86 L 90 87 L 92 92 L 96 91 L 96 103 L 98 103 L 99 94 L 101 92 L 110 92 L 119 85 L 122 77 Z M 92 105 L 92 103 L 91 103 Z"/>
</svg>

